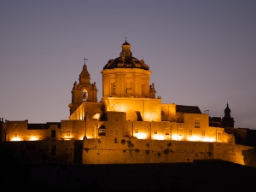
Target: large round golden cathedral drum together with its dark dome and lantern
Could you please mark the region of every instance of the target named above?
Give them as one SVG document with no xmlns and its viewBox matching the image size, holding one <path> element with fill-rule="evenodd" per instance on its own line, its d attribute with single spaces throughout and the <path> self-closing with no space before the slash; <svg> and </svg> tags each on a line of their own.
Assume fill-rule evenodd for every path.
<svg viewBox="0 0 256 192">
<path fill-rule="evenodd" d="M 119 57 L 111 59 L 102 70 L 102 99 L 108 97 L 155 98 L 151 71 L 143 60 L 132 56 L 131 45 L 122 44 Z"/>
</svg>

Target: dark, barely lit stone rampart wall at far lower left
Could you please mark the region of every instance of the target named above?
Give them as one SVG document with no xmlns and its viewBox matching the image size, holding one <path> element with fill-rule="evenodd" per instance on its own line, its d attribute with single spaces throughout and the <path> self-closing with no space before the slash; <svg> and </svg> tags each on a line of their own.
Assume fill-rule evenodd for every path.
<svg viewBox="0 0 256 192">
<path fill-rule="evenodd" d="M 16 160 L 20 163 L 58 161 L 73 164 L 74 140 L 46 140 L 0 143 L 2 160 Z"/>
</svg>

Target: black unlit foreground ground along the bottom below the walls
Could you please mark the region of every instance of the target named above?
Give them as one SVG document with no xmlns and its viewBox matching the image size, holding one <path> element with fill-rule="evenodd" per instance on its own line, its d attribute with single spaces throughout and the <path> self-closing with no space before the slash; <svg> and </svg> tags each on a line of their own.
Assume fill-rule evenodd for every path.
<svg viewBox="0 0 256 192">
<path fill-rule="evenodd" d="M 222 160 L 132 165 L 1 165 L 0 191 L 256 191 L 256 168 Z"/>
</svg>

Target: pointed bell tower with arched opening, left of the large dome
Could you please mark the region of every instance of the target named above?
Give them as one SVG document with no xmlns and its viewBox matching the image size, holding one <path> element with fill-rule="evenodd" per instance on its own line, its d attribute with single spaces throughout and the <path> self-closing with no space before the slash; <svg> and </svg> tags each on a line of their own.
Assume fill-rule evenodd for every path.
<svg viewBox="0 0 256 192">
<path fill-rule="evenodd" d="M 84 58 L 83 70 L 79 75 L 79 84 L 77 81 L 73 84 L 72 102 L 68 105 L 70 114 L 72 114 L 83 102 L 97 102 L 96 82 L 90 84 L 90 73 L 88 73 Z"/>
</svg>

